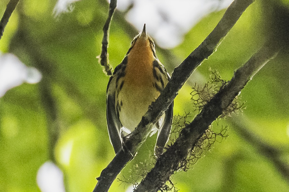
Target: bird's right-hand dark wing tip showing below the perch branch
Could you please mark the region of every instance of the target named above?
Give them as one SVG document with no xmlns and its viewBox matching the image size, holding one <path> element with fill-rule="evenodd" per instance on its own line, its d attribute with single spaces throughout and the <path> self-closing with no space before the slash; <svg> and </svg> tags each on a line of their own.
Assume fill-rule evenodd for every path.
<svg viewBox="0 0 289 192">
<path fill-rule="evenodd" d="M 164 146 L 168 142 L 168 137 L 171 132 L 172 122 L 173 122 L 173 106 L 174 101 L 165 111 L 165 118 L 163 126 L 160 127 L 157 137 L 157 143 L 155 144 L 155 155 L 162 155 Z"/>
</svg>

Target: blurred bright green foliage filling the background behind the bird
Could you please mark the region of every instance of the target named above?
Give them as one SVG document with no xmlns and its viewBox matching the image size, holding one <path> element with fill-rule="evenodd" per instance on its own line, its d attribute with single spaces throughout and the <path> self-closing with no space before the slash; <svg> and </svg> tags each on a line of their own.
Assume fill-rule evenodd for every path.
<svg viewBox="0 0 289 192">
<path fill-rule="evenodd" d="M 1 16 L 7 3 L 8 0 L 0 2 Z M 55 3 L 20 0 L 0 41 L 1 52 L 14 53 L 43 75 L 40 83 L 22 84 L 0 98 L 0 191 L 40 191 L 36 174 L 45 161 L 56 162 L 64 171 L 67 191 L 92 191 L 95 177 L 114 157 L 105 117 L 109 78 L 96 59 L 101 52 L 108 3 L 81 0 L 75 3 L 73 12 L 62 14 L 58 19 L 52 16 Z M 284 42 L 286 33 L 282 33 L 278 17 L 281 11 L 284 13 L 281 18 L 288 24 L 289 1 L 256 0 L 217 51 L 181 89 L 175 99 L 174 113 L 183 114 L 192 108 L 191 87 L 194 82 L 202 85 L 203 79 L 208 78 L 209 67 L 218 69 L 221 76 L 229 80 L 234 70 L 267 39 Z M 194 26 L 182 44 L 169 50 L 173 60 L 166 50 L 156 49 L 170 73 L 212 31 L 224 12 L 209 14 Z M 118 12 L 110 28 L 108 48 L 114 67 L 121 62 L 132 37 L 137 34 L 127 26 L 123 14 Z M 279 158 L 289 166 L 286 48 L 242 91 L 247 109 L 240 118 L 260 140 L 281 150 Z M 172 181 L 180 191 L 289 191 L 289 179 L 280 174 L 266 154 L 261 154 L 239 135 L 229 121 L 219 124 L 229 125 L 229 137 L 216 143 L 192 170 L 173 176 Z M 133 165 L 149 158 L 155 137 L 142 146 L 123 170 L 124 175 Z M 67 159 L 63 151 L 69 148 L 71 157 Z M 126 187 L 115 181 L 110 191 L 125 191 Z"/>
</svg>

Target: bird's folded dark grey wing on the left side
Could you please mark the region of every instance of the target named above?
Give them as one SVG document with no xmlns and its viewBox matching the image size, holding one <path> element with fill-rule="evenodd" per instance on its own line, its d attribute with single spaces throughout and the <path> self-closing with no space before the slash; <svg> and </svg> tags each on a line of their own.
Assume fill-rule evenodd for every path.
<svg viewBox="0 0 289 192">
<path fill-rule="evenodd" d="M 106 96 L 106 121 L 108 124 L 108 133 L 109 133 L 110 142 L 114 148 L 114 152 L 117 153 L 121 149 L 121 144 L 122 144 L 121 135 L 120 135 L 120 130 L 121 130 L 122 125 L 121 125 L 121 122 L 119 121 L 119 118 L 117 116 L 116 109 L 115 109 L 114 92 L 111 91 L 112 86 L 115 87 L 114 79 L 113 79 L 113 76 L 110 77 L 107 91 L 106 91 L 106 95 L 107 95 Z M 111 89 L 109 87 L 110 85 L 111 85 Z"/>
</svg>

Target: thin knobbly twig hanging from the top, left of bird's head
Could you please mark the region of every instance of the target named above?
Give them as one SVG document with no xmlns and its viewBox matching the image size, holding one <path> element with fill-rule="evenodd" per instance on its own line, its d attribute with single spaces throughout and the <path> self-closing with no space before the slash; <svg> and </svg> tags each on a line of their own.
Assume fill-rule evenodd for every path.
<svg viewBox="0 0 289 192">
<path fill-rule="evenodd" d="M 104 71 L 108 76 L 112 76 L 112 66 L 108 64 L 108 33 L 110 27 L 110 21 L 112 19 L 112 15 L 116 8 L 117 0 L 111 0 L 109 4 L 109 11 L 108 11 L 108 18 L 103 26 L 103 39 L 102 39 L 102 46 L 101 46 L 101 54 L 100 64 L 104 67 Z"/>
</svg>

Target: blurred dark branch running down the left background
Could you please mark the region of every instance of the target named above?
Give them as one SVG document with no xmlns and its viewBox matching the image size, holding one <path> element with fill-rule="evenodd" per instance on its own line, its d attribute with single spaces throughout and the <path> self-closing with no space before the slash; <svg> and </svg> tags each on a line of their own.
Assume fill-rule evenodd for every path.
<svg viewBox="0 0 289 192">
<path fill-rule="evenodd" d="M 55 79 L 55 66 L 53 61 L 46 58 L 44 54 L 40 51 L 39 45 L 35 42 L 35 39 L 27 31 L 25 22 L 29 20 L 23 14 L 22 9 L 19 9 L 19 23 L 20 27 L 17 30 L 16 34 L 13 36 L 11 43 L 9 44 L 9 52 L 14 54 L 17 53 L 20 48 L 22 52 L 25 52 L 25 55 L 29 57 L 31 63 L 40 70 L 42 74 L 42 79 L 39 82 L 38 90 L 40 93 L 40 100 L 43 106 L 43 109 L 46 114 L 47 121 L 47 136 L 48 136 L 48 160 L 52 161 L 60 170 L 63 172 L 64 176 L 64 188 L 65 191 L 68 191 L 68 180 L 67 173 L 65 172 L 63 166 L 56 161 L 55 157 L 55 146 L 60 137 L 60 127 L 57 121 L 58 106 L 53 96 L 53 80 Z M 71 85 L 72 83 L 70 83 Z"/>
</svg>

